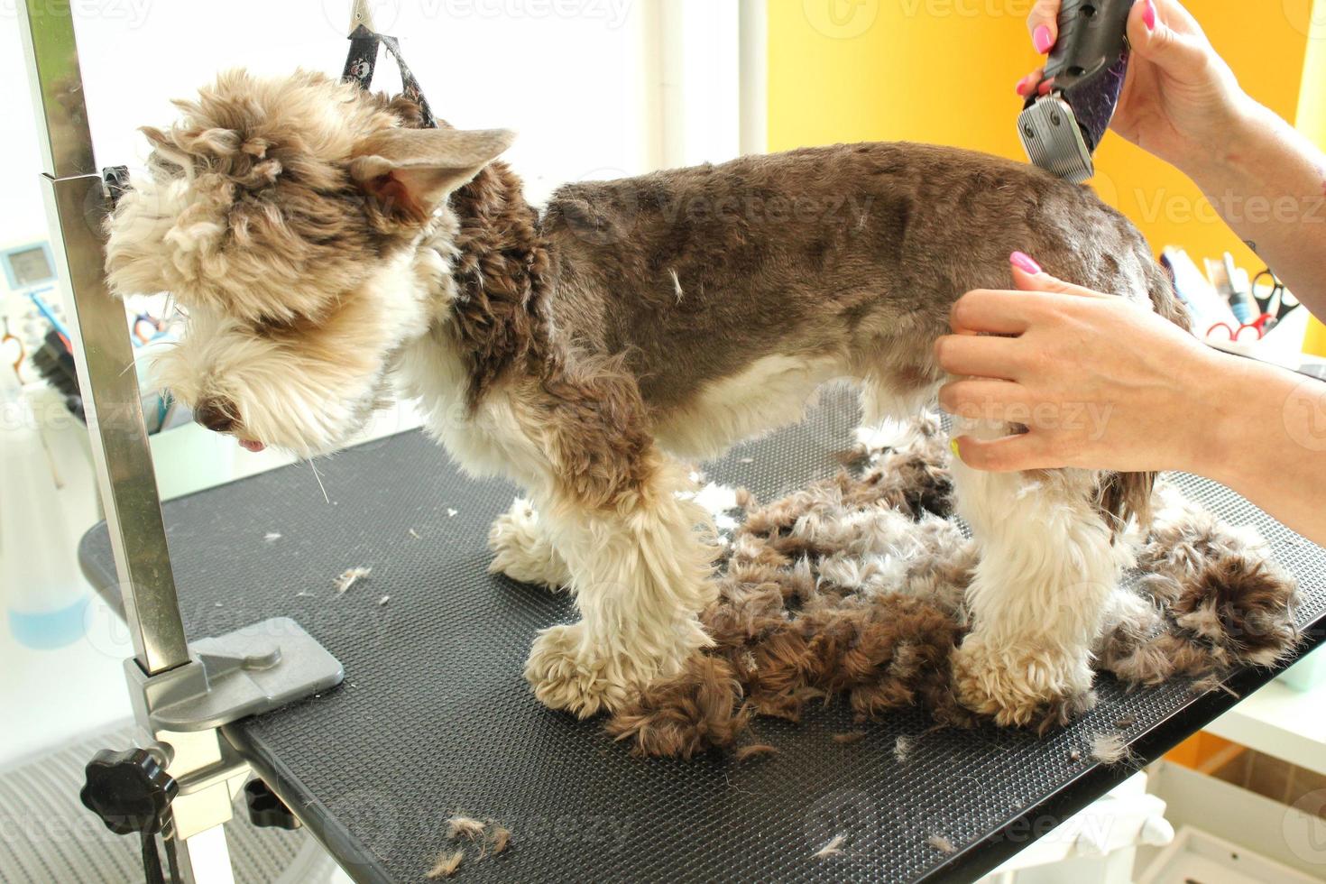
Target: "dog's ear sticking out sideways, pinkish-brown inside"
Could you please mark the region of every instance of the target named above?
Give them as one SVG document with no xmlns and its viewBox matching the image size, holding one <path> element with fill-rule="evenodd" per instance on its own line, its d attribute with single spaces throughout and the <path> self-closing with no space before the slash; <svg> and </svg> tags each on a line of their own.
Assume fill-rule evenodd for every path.
<svg viewBox="0 0 1326 884">
<path fill-rule="evenodd" d="M 354 146 L 350 176 L 387 216 L 422 224 L 514 140 L 507 129 L 389 129 Z"/>
</svg>

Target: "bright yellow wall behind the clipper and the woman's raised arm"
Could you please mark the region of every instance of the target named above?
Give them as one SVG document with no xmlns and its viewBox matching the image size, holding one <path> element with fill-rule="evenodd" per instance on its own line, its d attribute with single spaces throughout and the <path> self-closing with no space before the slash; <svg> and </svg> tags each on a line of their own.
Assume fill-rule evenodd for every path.
<svg viewBox="0 0 1326 884">
<path fill-rule="evenodd" d="M 1309 3 L 1187 0 L 1187 7 L 1244 87 L 1293 119 Z M 1024 24 L 1029 7 L 1030 0 L 769 0 L 770 150 L 907 139 L 1025 159 L 1013 85 L 1038 64 Z M 1199 260 L 1232 250 L 1253 273 L 1261 269 L 1174 168 L 1116 135 L 1101 146 L 1097 166 L 1097 190 L 1156 250 L 1183 245 Z"/>
</svg>

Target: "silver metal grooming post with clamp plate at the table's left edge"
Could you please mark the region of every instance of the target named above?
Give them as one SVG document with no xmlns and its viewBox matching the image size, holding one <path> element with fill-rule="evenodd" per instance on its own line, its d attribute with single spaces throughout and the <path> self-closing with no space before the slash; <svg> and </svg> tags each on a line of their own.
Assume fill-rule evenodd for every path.
<svg viewBox="0 0 1326 884">
<path fill-rule="evenodd" d="M 134 645 L 125 673 L 146 734 L 143 749 L 97 755 L 84 802 L 113 831 L 145 838 L 147 868 L 159 861 L 159 831 L 171 880 L 233 881 L 221 824 L 249 767 L 217 728 L 334 687 L 341 664 L 284 618 L 192 648 L 186 640 L 129 326 L 102 272 L 109 196 L 93 158 L 70 4 L 23 0 L 19 16 L 52 253 L 72 307 L 73 355 Z M 145 814 L 145 799 L 155 810 Z"/>
</svg>

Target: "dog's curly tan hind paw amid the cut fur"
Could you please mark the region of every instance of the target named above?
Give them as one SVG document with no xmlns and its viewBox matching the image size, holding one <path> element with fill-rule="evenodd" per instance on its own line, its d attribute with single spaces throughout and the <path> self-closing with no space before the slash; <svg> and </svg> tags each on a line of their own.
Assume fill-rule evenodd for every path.
<svg viewBox="0 0 1326 884">
<path fill-rule="evenodd" d="M 971 634 L 953 652 L 957 701 L 1001 726 L 1062 726 L 1095 705 L 1086 655 L 1058 657 L 1044 647 L 989 647 Z"/>
</svg>

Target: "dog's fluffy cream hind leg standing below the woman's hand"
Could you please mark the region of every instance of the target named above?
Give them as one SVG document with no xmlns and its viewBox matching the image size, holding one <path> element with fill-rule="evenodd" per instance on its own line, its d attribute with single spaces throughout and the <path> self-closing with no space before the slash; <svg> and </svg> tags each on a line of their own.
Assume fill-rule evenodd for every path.
<svg viewBox="0 0 1326 884">
<path fill-rule="evenodd" d="M 1008 433 L 956 423 L 955 436 Z M 1094 701 L 1091 647 L 1127 558 L 1095 504 L 1098 476 L 984 473 L 955 459 L 953 478 L 980 550 L 972 631 L 953 656 L 959 700 L 1001 725 L 1063 721 Z"/>
</svg>

